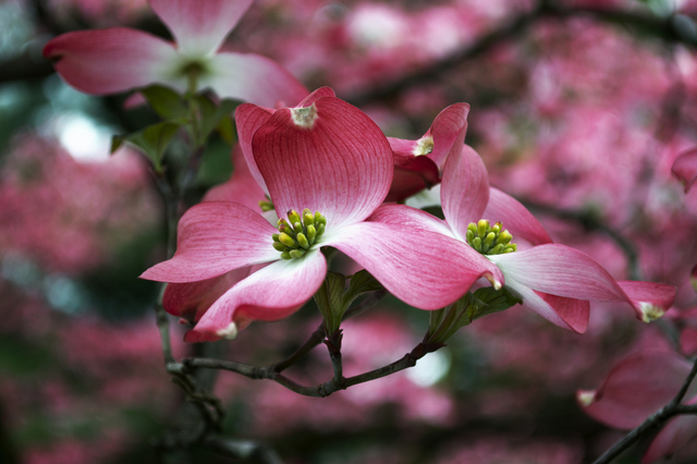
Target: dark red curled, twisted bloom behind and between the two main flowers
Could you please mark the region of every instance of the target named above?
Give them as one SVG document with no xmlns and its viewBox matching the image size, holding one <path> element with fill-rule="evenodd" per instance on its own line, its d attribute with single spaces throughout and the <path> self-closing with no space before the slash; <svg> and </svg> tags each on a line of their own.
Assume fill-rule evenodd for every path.
<svg viewBox="0 0 697 464">
<path fill-rule="evenodd" d="M 399 202 L 440 183 L 448 154 L 465 142 L 469 105 L 455 103 L 441 111 L 417 141 L 388 137 L 394 154 L 394 179 L 386 198 Z"/>
</svg>

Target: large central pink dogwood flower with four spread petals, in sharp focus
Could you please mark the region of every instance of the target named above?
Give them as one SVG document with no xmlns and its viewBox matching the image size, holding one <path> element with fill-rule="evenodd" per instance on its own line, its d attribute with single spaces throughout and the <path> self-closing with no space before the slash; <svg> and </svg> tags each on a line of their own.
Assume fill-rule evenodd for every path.
<svg viewBox="0 0 697 464">
<path fill-rule="evenodd" d="M 218 298 L 185 340 L 232 337 L 252 320 L 276 320 L 298 309 L 327 273 L 322 246 L 346 254 L 396 297 L 424 309 L 453 303 L 481 277 L 503 284 L 496 265 L 473 260 L 468 248 L 451 237 L 365 221 L 392 183 L 392 150 L 360 110 L 316 96 L 273 111 L 252 137 L 270 202 L 277 211 L 288 211 L 288 219 L 277 229 L 236 203 L 199 204 L 179 223 L 174 257 L 142 276 L 199 282 L 268 264 Z"/>
</svg>

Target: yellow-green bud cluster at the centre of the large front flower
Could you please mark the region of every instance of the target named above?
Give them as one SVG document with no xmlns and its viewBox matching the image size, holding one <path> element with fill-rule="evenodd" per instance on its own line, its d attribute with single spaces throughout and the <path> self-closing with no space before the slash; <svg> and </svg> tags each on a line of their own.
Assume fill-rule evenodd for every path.
<svg viewBox="0 0 697 464">
<path fill-rule="evenodd" d="M 279 233 L 271 235 L 273 248 L 281 252 L 283 259 L 302 258 L 325 233 L 327 218 L 319 211 L 313 215 L 307 208 L 301 217 L 297 211 L 291 209 L 288 211 L 288 221 L 284 218 L 279 219 L 278 227 Z"/>
</svg>

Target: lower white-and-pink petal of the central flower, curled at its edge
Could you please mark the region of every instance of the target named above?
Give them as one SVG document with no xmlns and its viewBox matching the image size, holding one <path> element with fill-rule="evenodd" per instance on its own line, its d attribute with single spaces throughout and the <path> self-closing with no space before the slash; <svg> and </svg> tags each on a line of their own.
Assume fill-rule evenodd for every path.
<svg viewBox="0 0 697 464">
<path fill-rule="evenodd" d="M 278 252 L 276 252 L 278 254 Z M 194 328 L 206 340 L 219 339 L 234 322 L 236 329 L 252 320 L 278 320 L 290 316 L 313 297 L 327 274 L 319 249 L 301 259 L 280 260 L 254 272 L 225 292 Z M 188 335 L 186 341 L 194 341 Z"/>
</svg>

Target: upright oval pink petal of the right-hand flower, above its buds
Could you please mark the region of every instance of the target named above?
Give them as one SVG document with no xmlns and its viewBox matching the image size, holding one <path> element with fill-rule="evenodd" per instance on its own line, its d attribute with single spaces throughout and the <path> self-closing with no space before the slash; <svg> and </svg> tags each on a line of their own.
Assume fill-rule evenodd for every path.
<svg viewBox="0 0 697 464">
<path fill-rule="evenodd" d="M 466 240 L 467 225 L 484 218 L 489 203 L 487 168 L 467 145 L 448 157 L 440 198 L 448 224 L 461 240 Z"/>
</svg>

